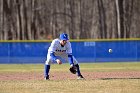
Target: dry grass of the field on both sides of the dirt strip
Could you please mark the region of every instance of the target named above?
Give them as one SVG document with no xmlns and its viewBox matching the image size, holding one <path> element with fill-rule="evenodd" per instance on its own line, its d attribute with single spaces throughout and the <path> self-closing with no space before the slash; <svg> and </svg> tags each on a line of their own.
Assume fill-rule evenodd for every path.
<svg viewBox="0 0 140 93">
<path fill-rule="evenodd" d="M 140 62 L 81 63 L 80 66 L 83 73 L 140 72 Z M 51 73 L 67 73 L 68 68 L 68 64 L 53 64 Z M 43 69 L 43 64 L 0 64 L 0 93 L 140 93 L 140 79 L 1 79 L 5 74 L 43 73 Z"/>
</svg>

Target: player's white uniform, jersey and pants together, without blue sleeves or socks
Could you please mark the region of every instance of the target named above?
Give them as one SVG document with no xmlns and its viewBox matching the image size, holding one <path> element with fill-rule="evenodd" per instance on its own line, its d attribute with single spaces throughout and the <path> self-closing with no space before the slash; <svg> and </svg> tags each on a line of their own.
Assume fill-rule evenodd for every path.
<svg viewBox="0 0 140 93">
<path fill-rule="evenodd" d="M 60 59 L 62 63 L 69 62 L 68 54 L 72 54 L 71 43 L 67 41 L 65 46 L 61 46 L 60 39 L 54 39 L 48 49 L 47 60 L 45 62 L 46 65 L 50 65 L 52 62 L 55 62 L 51 57 L 51 53 L 54 53 L 57 59 Z M 78 64 L 78 61 L 73 57 L 73 63 Z"/>
</svg>

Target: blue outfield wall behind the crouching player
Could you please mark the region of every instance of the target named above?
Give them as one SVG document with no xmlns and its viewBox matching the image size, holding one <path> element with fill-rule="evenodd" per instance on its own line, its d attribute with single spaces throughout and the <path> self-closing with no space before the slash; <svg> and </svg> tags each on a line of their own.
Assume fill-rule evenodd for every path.
<svg viewBox="0 0 140 93">
<path fill-rule="evenodd" d="M 51 42 L 0 42 L 0 63 L 44 63 Z M 140 61 L 140 40 L 71 41 L 79 62 Z M 109 52 L 112 49 L 112 52 Z"/>
</svg>

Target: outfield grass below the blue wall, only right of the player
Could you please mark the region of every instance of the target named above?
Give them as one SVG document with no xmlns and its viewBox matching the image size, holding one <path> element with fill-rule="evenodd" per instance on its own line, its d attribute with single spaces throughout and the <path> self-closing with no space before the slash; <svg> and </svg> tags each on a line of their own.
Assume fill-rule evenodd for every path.
<svg viewBox="0 0 140 93">
<path fill-rule="evenodd" d="M 85 71 L 95 72 L 140 71 L 140 62 L 90 63 L 80 66 Z"/>
</svg>

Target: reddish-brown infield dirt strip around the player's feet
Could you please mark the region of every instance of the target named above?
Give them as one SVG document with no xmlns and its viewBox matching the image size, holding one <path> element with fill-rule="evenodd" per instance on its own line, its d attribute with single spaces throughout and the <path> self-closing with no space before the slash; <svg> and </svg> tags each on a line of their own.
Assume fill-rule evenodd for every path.
<svg viewBox="0 0 140 93">
<path fill-rule="evenodd" d="M 88 79 L 140 79 L 140 72 L 83 72 Z M 16 72 L 0 73 L 0 80 L 43 80 L 43 73 L 40 72 Z M 76 75 L 67 72 L 52 72 L 50 80 L 76 79 Z"/>
</svg>

